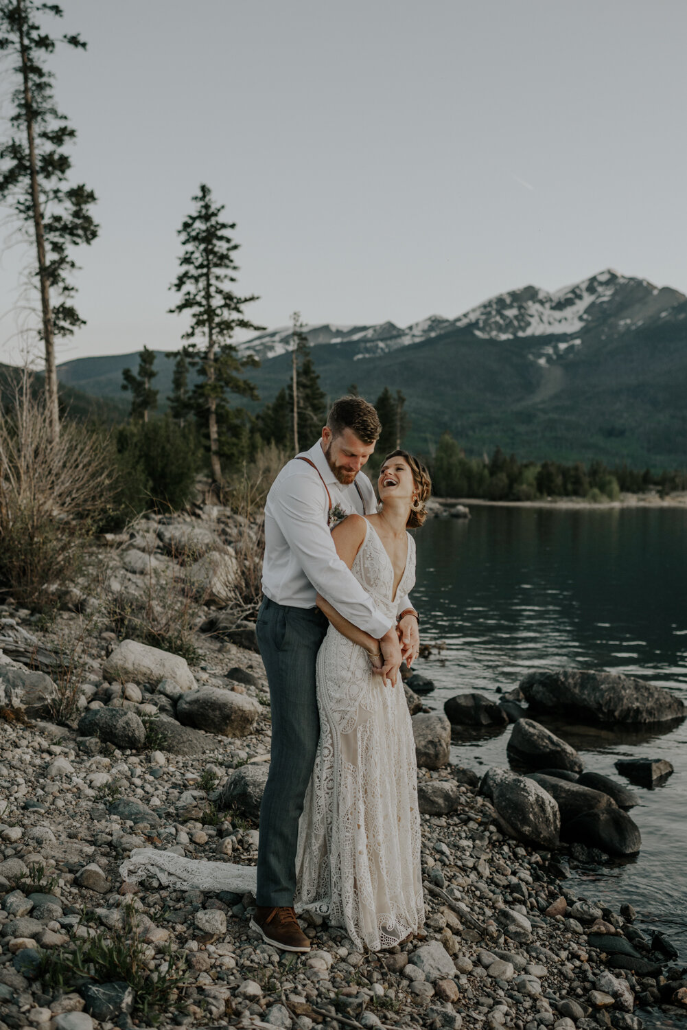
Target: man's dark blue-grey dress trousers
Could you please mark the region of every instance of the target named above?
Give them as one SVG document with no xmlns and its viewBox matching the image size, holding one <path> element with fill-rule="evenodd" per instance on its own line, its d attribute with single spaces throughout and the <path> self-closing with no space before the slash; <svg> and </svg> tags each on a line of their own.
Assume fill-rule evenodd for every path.
<svg viewBox="0 0 687 1030">
<path fill-rule="evenodd" d="M 257 643 L 270 684 L 272 754 L 260 810 L 259 905 L 293 905 L 298 823 L 319 740 L 315 659 L 329 622 L 317 608 L 263 598 Z"/>
</svg>

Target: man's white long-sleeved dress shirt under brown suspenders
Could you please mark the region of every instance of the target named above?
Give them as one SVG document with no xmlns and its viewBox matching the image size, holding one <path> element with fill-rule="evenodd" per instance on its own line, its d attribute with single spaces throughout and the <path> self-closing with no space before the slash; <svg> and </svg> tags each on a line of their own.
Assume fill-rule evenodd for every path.
<svg viewBox="0 0 687 1030">
<path fill-rule="evenodd" d="M 347 514 L 370 515 L 377 502 L 372 483 L 358 473 L 355 483 L 344 486 L 329 467 L 318 440 L 304 452 L 317 467 L 299 458 L 287 461 L 275 479 L 265 504 L 265 561 L 263 592 L 271 600 L 293 608 L 314 608 L 320 593 L 337 612 L 359 629 L 383 637 L 390 628 L 346 563 L 337 554 L 329 526 L 329 502 Z M 407 596 L 399 602 L 397 612 L 410 607 Z"/>
</svg>

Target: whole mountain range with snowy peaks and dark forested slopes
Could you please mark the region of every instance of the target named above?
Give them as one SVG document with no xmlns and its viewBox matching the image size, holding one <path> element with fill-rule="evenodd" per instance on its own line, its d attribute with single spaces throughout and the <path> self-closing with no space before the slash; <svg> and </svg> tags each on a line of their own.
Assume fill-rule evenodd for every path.
<svg viewBox="0 0 687 1030">
<path fill-rule="evenodd" d="M 307 334 L 330 397 L 355 381 L 372 401 L 384 386 L 405 393 L 414 449 L 431 451 L 448 430 L 473 454 L 499 445 L 522 459 L 687 465 L 687 298 L 671 287 L 607 269 L 553 293 L 500 294 L 455 319 L 321 323 Z M 238 347 L 262 357 L 249 372 L 255 411 L 288 382 L 290 328 Z M 58 374 L 121 397 L 122 370 L 136 360 L 136 352 L 77 358 Z M 172 362 L 158 368 L 162 400 Z"/>
</svg>

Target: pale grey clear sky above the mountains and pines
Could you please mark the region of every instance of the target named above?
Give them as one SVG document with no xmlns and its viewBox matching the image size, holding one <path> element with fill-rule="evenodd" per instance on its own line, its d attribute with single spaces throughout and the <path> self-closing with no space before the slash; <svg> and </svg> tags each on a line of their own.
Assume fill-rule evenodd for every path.
<svg viewBox="0 0 687 1030">
<path fill-rule="evenodd" d="M 50 58 L 56 98 L 101 232 L 59 362 L 181 345 L 169 286 L 201 182 L 270 329 L 455 317 L 609 267 L 687 291 L 684 0 L 61 2 L 89 45 Z M 4 232 L 9 362 L 31 254 Z"/>
</svg>

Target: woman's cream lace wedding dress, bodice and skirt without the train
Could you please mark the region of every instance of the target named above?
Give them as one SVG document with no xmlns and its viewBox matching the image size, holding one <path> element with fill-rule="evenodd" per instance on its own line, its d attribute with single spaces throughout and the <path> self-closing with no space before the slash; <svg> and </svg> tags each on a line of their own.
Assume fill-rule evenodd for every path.
<svg viewBox="0 0 687 1030">
<path fill-rule="evenodd" d="M 396 618 L 393 568 L 370 522 L 352 573 Z M 415 580 L 415 542 L 396 596 Z M 297 911 L 327 916 L 356 948 L 390 948 L 424 922 L 413 729 L 399 677 L 330 626 L 317 655 L 320 739 L 299 823 Z"/>
</svg>

